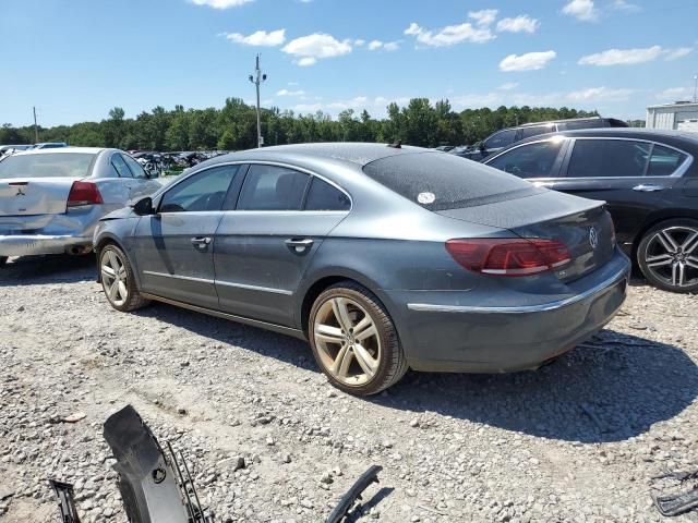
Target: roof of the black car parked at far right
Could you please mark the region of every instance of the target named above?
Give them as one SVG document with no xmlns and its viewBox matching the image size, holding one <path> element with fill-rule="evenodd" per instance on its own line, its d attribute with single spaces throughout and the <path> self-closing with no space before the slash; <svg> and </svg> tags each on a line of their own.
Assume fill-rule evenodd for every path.
<svg viewBox="0 0 698 523">
<path fill-rule="evenodd" d="M 600 127 L 600 129 L 580 129 L 577 131 L 559 131 L 557 133 L 539 134 L 530 138 L 516 142 L 512 147 L 530 142 L 539 142 L 552 136 L 575 137 L 606 137 L 606 138 L 631 138 L 662 142 L 679 149 L 690 149 L 693 154 L 698 153 L 698 133 L 689 133 L 683 131 L 671 131 L 660 129 L 639 129 L 639 127 Z"/>
</svg>

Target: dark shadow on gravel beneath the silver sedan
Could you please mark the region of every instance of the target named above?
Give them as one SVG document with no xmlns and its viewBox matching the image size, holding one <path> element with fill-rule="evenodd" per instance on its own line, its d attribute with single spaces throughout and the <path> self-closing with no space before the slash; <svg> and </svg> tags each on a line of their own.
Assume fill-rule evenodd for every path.
<svg viewBox="0 0 698 523">
<path fill-rule="evenodd" d="M 22 256 L 0 267 L 0 287 L 74 283 L 96 280 L 95 256 Z"/>
</svg>

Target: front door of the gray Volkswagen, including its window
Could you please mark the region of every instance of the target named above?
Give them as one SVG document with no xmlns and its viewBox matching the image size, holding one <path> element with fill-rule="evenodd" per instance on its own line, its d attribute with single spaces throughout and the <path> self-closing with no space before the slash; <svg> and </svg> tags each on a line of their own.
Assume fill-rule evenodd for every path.
<svg viewBox="0 0 698 523">
<path fill-rule="evenodd" d="M 192 305 L 218 308 L 214 235 L 239 166 L 205 169 L 165 192 L 157 214 L 134 233 L 143 291 Z"/>
</svg>

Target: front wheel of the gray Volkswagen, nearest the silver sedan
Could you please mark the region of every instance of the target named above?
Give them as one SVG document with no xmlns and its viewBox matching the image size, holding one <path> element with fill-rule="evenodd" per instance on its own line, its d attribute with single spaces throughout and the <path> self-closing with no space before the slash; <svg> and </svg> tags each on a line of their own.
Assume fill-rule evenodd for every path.
<svg viewBox="0 0 698 523">
<path fill-rule="evenodd" d="M 109 244 L 101 250 L 99 271 L 107 301 L 117 311 L 130 313 L 151 303 L 141 296 L 129 258 L 117 245 Z"/>
</svg>

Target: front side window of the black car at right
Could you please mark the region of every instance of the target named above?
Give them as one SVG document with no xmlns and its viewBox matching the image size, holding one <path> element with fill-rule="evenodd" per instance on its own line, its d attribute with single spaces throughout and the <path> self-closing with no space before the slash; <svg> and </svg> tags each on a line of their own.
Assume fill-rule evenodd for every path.
<svg viewBox="0 0 698 523">
<path fill-rule="evenodd" d="M 524 145 L 490 161 L 488 165 L 519 178 L 550 178 L 563 146 L 562 141 Z"/>
</svg>

